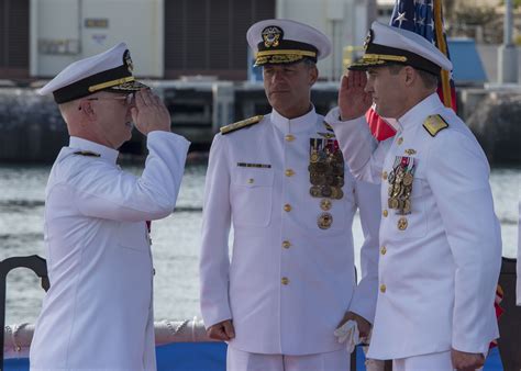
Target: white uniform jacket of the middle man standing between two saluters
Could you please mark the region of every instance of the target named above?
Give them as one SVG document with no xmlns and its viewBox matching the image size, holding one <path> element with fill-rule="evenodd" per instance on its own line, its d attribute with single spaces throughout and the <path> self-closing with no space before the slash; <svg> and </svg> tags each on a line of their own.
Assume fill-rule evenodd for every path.
<svg viewBox="0 0 521 371">
<path fill-rule="evenodd" d="M 288 120 L 276 111 L 218 134 L 210 150 L 200 260 L 201 310 L 210 327 L 233 319 L 230 346 L 256 353 L 336 350 L 333 331 L 351 310 L 374 318 L 378 190 L 345 172 L 333 223 L 320 229 L 310 195 L 310 138 L 326 130 L 314 109 Z M 356 285 L 352 223 L 358 206 L 365 243 Z M 229 234 L 233 224 L 233 257 Z"/>
</svg>

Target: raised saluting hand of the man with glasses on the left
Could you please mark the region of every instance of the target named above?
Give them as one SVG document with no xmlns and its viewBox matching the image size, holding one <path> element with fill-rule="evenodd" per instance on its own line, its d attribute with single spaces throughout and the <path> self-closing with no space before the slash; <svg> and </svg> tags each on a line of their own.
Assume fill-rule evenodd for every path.
<svg viewBox="0 0 521 371">
<path fill-rule="evenodd" d="M 170 113 L 160 98 L 149 89 L 141 89 L 135 94 L 135 105 L 131 113 L 135 127 L 143 135 L 153 131 L 170 132 Z"/>
</svg>

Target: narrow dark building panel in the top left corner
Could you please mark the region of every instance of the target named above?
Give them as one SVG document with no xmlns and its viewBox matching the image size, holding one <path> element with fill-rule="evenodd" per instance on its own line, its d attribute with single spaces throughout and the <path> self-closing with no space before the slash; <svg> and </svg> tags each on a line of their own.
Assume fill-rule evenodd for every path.
<svg viewBox="0 0 521 371">
<path fill-rule="evenodd" d="M 0 79 L 29 78 L 29 0 L 0 0 Z"/>
</svg>

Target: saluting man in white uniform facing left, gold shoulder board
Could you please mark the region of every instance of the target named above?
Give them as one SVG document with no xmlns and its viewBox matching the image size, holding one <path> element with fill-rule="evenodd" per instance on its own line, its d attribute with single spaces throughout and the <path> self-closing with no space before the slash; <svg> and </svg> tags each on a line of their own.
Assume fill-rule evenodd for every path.
<svg viewBox="0 0 521 371">
<path fill-rule="evenodd" d="M 381 183 L 368 356 L 392 359 L 393 370 L 474 370 L 498 337 L 501 239 L 489 165 L 436 94 L 437 76 L 452 64 L 434 45 L 374 23 L 365 47 L 326 121 L 354 176 Z M 376 150 L 364 119 L 372 103 L 397 130 Z"/>
</svg>

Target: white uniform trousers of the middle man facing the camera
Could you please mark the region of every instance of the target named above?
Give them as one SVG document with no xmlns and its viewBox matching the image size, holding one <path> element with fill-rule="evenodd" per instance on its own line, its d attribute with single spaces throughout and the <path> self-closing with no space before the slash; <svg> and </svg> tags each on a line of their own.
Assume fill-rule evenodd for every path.
<svg viewBox="0 0 521 371">
<path fill-rule="evenodd" d="M 325 353 L 287 356 L 263 355 L 228 347 L 226 371 L 350 371 L 346 349 Z"/>
</svg>

